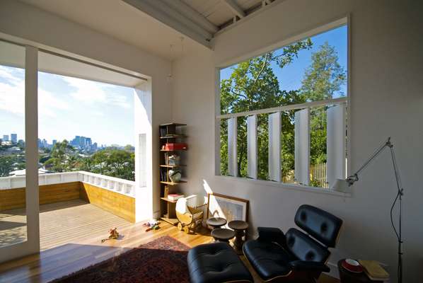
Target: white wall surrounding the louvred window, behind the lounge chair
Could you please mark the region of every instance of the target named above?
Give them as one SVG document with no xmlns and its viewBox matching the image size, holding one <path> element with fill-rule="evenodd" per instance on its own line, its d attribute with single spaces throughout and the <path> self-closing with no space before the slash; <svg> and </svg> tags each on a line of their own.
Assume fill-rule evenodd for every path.
<svg viewBox="0 0 423 283">
<path fill-rule="evenodd" d="M 292 190 L 214 175 L 215 67 L 351 15 L 351 161 L 366 160 L 391 136 L 405 187 L 403 237 L 405 282 L 423 276 L 423 24 L 420 1 L 286 0 L 231 28 L 214 40 L 214 52 L 180 59 L 173 81 L 173 120 L 187 123 L 187 193 L 214 192 L 250 200 L 250 224 L 294 226 L 299 205 L 307 203 L 344 219 L 340 258 L 374 259 L 395 277 L 397 242 L 389 209 L 395 197 L 388 151 L 361 175 L 352 197 Z M 332 270 L 335 267 L 332 266 Z M 396 280 L 393 279 L 393 282 Z"/>
</svg>

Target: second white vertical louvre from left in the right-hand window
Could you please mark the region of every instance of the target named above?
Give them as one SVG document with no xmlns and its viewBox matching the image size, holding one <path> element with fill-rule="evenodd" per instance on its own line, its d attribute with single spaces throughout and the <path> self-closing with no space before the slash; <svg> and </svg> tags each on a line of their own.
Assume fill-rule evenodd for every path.
<svg viewBox="0 0 423 283">
<path fill-rule="evenodd" d="M 257 115 L 247 117 L 248 177 L 257 179 Z"/>
</svg>

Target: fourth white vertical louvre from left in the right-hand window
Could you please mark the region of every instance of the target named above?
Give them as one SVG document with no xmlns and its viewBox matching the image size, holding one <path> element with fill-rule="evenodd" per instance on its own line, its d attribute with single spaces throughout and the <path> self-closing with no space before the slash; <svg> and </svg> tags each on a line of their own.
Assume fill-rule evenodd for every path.
<svg viewBox="0 0 423 283">
<path fill-rule="evenodd" d="M 310 110 L 295 112 L 295 179 L 301 185 L 310 182 Z"/>
</svg>

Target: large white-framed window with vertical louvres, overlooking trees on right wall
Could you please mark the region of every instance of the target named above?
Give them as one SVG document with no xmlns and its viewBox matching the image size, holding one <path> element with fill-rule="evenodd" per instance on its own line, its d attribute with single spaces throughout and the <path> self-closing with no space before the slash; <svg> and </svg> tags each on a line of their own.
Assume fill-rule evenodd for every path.
<svg viewBox="0 0 423 283">
<path fill-rule="evenodd" d="M 347 158 L 347 25 L 220 71 L 220 174 L 330 187 Z"/>
</svg>

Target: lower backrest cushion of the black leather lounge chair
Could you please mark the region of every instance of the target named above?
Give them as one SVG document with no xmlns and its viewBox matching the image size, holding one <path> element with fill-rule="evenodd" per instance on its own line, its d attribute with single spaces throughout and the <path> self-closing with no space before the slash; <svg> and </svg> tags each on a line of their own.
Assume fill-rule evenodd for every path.
<svg viewBox="0 0 423 283">
<path fill-rule="evenodd" d="M 330 255 L 328 248 L 295 228 L 286 232 L 286 246 L 299 260 L 325 262 Z"/>
</svg>

